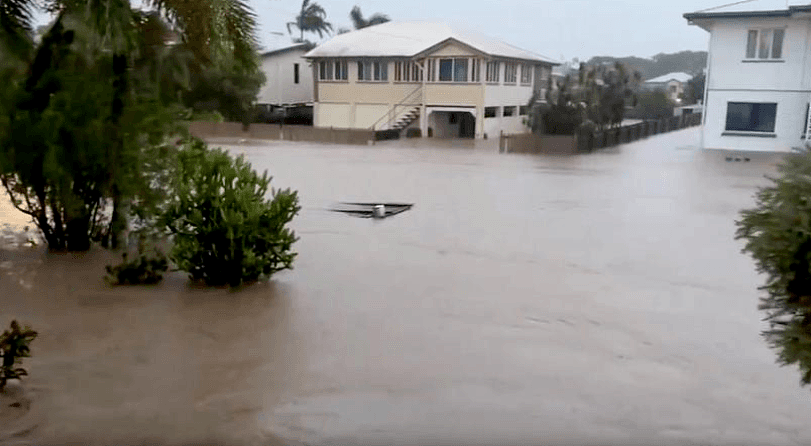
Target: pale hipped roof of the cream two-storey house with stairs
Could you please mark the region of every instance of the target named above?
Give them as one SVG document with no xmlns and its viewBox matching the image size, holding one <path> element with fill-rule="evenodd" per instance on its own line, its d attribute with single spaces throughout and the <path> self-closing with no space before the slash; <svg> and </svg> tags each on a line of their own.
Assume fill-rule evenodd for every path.
<svg viewBox="0 0 811 446">
<path fill-rule="evenodd" d="M 307 53 L 305 57 L 414 57 L 451 40 L 488 56 L 552 65 L 560 63 L 473 31 L 432 22 L 387 22 L 339 34 Z"/>
</svg>

